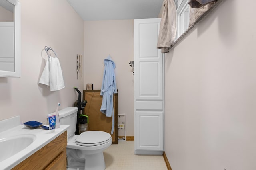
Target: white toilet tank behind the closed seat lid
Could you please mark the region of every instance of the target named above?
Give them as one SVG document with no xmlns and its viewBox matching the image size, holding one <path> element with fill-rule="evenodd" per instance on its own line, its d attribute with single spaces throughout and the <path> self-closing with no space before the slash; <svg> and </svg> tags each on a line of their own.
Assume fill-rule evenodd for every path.
<svg viewBox="0 0 256 170">
<path fill-rule="evenodd" d="M 77 107 L 66 107 L 65 109 L 59 110 L 60 125 L 69 125 L 68 137 L 74 135 L 76 131 L 76 118 L 77 118 Z"/>
</svg>

